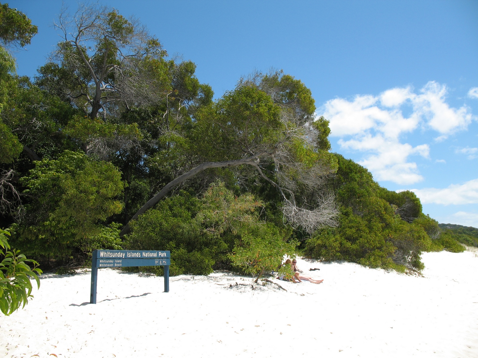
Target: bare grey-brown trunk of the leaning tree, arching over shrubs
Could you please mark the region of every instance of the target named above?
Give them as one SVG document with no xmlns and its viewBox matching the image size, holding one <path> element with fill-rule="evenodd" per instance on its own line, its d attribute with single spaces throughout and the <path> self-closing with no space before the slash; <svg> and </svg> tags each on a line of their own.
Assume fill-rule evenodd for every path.
<svg viewBox="0 0 478 358">
<path fill-rule="evenodd" d="M 130 222 L 132 220 L 137 220 L 141 214 L 146 212 L 148 209 L 152 208 L 154 205 L 158 203 L 159 200 L 163 199 L 164 196 L 169 193 L 171 190 L 174 189 L 177 185 L 181 184 L 183 181 L 194 177 L 196 174 L 200 173 L 203 170 L 209 169 L 209 168 L 221 168 L 221 167 L 236 167 L 238 165 L 243 165 L 243 164 L 249 164 L 254 166 L 255 168 L 257 167 L 257 164 L 259 163 L 259 157 L 263 155 L 269 155 L 268 152 L 261 152 L 257 153 L 253 156 L 250 156 L 248 158 L 242 158 L 242 159 L 237 159 L 237 160 L 225 160 L 222 162 L 206 162 L 198 165 L 196 168 L 193 168 L 189 170 L 188 172 L 184 173 L 183 175 L 177 177 L 170 183 L 168 183 L 159 193 L 157 193 L 155 196 L 153 196 L 146 204 L 144 204 L 140 210 L 136 212 L 136 214 L 133 215 L 133 217 L 128 221 L 128 223 L 123 227 L 123 229 L 120 232 L 120 237 L 123 237 L 123 235 L 129 233 L 131 231 L 130 228 Z"/>
</svg>

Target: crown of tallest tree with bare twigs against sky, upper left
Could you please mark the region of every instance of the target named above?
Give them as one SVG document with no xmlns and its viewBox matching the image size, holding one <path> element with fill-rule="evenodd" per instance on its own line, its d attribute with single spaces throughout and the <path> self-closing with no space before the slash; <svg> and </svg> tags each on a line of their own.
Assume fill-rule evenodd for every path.
<svg viewBox="0 0 478 358">
<path fill-rule="evenodd" d="M 62 9 L 54 26 L 62 41 L 52 62 L 40 70 L 39 84 L 81 108 L 91 119 L 120 106 L 131 107 L 163 95 L 164 81 L 150 71 L 166 66 L 166 52 L 144 25 L 117 10 L 80 4 Z M 156 71 L 157 72 L 157 71 Z"/>
</svg>

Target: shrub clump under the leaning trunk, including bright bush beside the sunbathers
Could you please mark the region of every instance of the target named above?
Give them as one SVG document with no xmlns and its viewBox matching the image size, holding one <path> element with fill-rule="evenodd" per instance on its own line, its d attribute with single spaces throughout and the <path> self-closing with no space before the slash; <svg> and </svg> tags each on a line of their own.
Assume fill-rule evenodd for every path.
<svg viewBox="0 0 478 358">
<path fill-rule="evenodd" d="M 237 197 L 222 182 L 212 183 L 201 200 L 182 191 L 141 215 L 125 245 L 170 250 L 171 274 L 210 274 L 232 264 L 259 277 L 295 247 L 286 242 L 289 231 L 261 221 L 262 208 L 252 195 Z"/>
</svg>

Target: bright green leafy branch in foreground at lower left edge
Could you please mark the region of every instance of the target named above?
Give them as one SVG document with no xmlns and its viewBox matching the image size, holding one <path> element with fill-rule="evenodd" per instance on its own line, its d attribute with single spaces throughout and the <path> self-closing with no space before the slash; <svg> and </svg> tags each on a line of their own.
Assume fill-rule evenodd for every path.
<svg viewBox="0 0 478 358">
<path fill-rule="evenodd" d="M 42 274 L 42 270 L 38 268 L 36 261 L 27 259 L 20 253 L 20 250 L 10 250 L 10 244 L 5 235 L 10 235 L 10 232 L 0 230 L 0 258 L 2 258 L 0 262 L 0 311 L 9 316 L 20 306 L 25 307 L 28 298 L 33 297 L 30 278 L 35 279 L 40 288 L 38 275 Z M 33 264 L 33 268 L 28 263 Z"/>
</svg>

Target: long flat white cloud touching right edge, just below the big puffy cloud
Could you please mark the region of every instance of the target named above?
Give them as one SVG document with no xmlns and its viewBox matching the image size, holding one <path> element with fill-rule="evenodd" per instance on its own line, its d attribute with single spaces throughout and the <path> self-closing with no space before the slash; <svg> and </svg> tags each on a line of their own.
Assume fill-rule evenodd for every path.
<svg viewBox="0 0 478 358">
<path fill-rule="evenodd" d="M 412 189 L 423 204 L 478 204 L 478 179 L 452 184 L 445 189 Z"/>
</svg>

